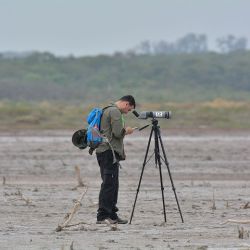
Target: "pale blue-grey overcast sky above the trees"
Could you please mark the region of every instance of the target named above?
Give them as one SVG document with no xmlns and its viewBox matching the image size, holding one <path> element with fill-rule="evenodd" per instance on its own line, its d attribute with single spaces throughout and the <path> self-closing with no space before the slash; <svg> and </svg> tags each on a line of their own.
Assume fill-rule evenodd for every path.
<svg viewBox="0 0 250 250">
<path fill-rule="evenodd" d="M 249 45 L 249 13 L 250 0 L 0 0 L 0 52 L 112 54 L 190 32 Z"/>
</svg>

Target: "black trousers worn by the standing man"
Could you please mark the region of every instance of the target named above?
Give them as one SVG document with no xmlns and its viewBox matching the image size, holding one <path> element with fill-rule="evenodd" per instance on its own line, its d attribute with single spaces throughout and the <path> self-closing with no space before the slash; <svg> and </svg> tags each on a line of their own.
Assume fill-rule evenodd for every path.
<svg viewBox="0 0 250 250">
<path fill-rule="evenodd" d="M 119 189 L 119 164 L 113 164 L 111 150 L 96 154 L 100 166 L 102 185 L 99 193 L 99 208 L 97 220 L 111 218 L 117 219 L 116 207 Z M 118 157 L 118 155 L 116 155 Z M 118 158 L 117 158 L 118 159 Z"/>
</svg>

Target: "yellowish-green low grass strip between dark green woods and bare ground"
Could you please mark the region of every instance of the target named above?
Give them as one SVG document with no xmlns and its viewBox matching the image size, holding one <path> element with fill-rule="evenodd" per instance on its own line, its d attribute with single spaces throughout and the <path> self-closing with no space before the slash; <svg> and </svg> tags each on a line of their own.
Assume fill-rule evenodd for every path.
<svg viewBox="0 0 250 250">
<path fill-rule="evenodd" d="M 0 102 L 0 130 L 70 129 L 86 127 L 86 116 L 96 104 L 73 105 L 59 102 Z M 202 103 L 145 103 L 139 110 L 171 110 L 170 120 L 160 120 L 162 128 L 177 129 L 250 129 L 250 102 L 217 99 Z M 132 114 L 127 124 L 143 126 L 150 120 L 138 120 Z"/>
</svg>

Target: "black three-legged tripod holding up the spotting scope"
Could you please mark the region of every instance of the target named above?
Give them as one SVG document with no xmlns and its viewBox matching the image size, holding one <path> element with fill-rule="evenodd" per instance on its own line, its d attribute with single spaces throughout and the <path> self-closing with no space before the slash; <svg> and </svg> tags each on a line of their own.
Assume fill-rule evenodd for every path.
<svg viewBox="0 0 250 250">
<path fill-rule="evenodd" d="M 149 126 L 149 125 L 147 125 L 147 126 Z M 142 129 L 146 128 L 147 126 L 143 127 Z M 143 166 L 142 166 L 141 176 L 140 176 L 139 184 L 138 184 L 138 187 L 137 187 L 137 192 L 136 192 L 135 201 L 134 201 L 133 210 L 132 210 L 132 213 L 131 213 L 129 224 L 131 224 L 132 218 L 133 218 L 133 215 L 134 215 L 135 204 L 136 204 L 137 196 L 138 196 L 138 193 L 139 193 L 139 189 L 140 189 L 140 185 L 141 185 L 141 180 L 142 180 L 142 175 L 143 175 L 143 172 L 144 172 L 144 168 L 145 168 L 147 162 L 152 157 L 151 156 L 149 158 L 149 160 L 147 161 L 148 151 L 149 151 L 150 142 L 151 142 L 151 138 L 152 138 L 153 132 L 154 132 L 154 139 L 155 139 L 155 148 L 154 148 L 155 164 L 156 164 L 156 166 L 157 165 L 159 166 L 159 172 L 160 172 L 161 194 L 162 194 L 162 203 L 163 203 L 163 211 L 164 211 L 164 220 L 165 220 L 165 222 L 167 221 L 166 220 L 165 201 L 164 201 L 164 187 L 163 187 L 162 172 L 161 172 L 161 159 L 163 160 L 163 162 L 167 166 L 169 178 L 170 178 L 170 181 L 171 181 L 171 184 L 172 184 L 172 189 L 174 191 L 176 203 L 177 203 L 178 210 L 179 210 L 179 213 L 180 213 L 180 216 L 181 216 L 181 221 L 183 223 L 184 221 L 183 221 L 183 217 L 182 217 L 180 205 L 179 205 L 178 198 L 177 198 L 177 195 L 176 195 L 176 192 L 175 192 L 175 187 L 174 187 L 173 179 L 172 179 L 172 176 L 171 176 L 171 173 L 170 173 L 170 169 L 169 169 L 169 163 L 168 163 L 168 160 L 167 160 L 167 157 L 166 157 L 166 153 L 165 153 L 165 150 L 164 150 L 164 147 L 163 147 L 162 139 L 161 139 L 160 127 L 158 126 L 158 120 L 156 120 L 155 118 L 153 118 L 152 119 L 152 129 L 151 129 L 149 140 L 148 140 L 147 151 L 146 151 L 144 162 L 143 162 Z M 161 150 L 163 152 L 164 159 L 160 155 L 159 141 L 160 141 Z"/>
</svg>

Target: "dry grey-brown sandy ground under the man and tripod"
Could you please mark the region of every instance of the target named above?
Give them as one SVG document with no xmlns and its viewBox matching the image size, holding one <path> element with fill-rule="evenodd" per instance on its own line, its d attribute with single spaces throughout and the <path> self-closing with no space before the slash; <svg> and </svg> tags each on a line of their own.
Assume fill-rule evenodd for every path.
<svg viewBox="0 0 250 250">
<path fill-rule="evenodd" d="M 148 136 L 139 134 L 125 140 L 121 217 L 130 218 L 147 141 Z M 145 167 L 132 224 L 118 225 L 113 231 L 95 223 L 99 169 L 94 156 L 71 144 L 70 132 L 2 133 L 0 249 L 250 249 L 250 224 L 222 224 L 228 219 L 250 219 L 250 208 L 243 208 L 250 202 L 248 133 L 170 133 L 163 142 L 184 223 L 163 164 L 164 223 L 159 169 L 151 160 Z M 86 188 L 74 189 L 76 165 L 88 190 L 71 223 L 86 224 L 56 232 L 73 200 Z M 241 227 L 243 239 L 238 237 Z"/>
</svg>

